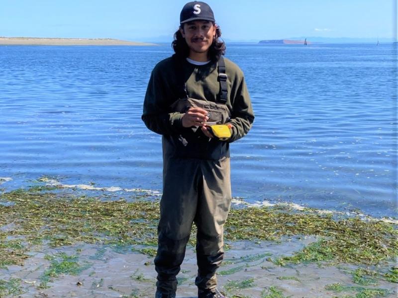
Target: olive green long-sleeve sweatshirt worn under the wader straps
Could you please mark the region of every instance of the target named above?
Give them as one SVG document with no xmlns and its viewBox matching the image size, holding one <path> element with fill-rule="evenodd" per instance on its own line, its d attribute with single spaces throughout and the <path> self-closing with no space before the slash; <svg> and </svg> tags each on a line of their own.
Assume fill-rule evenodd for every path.
<svg viewBox="0 0 398 298">
<path fill-rule="evenodd" d="M 223 147 L 221 152 L 216 154 L 207 152 L 208 154 L 202 155 L 203 158 L 219 159 L 222 155 L 229 154 L 227 143 L 244 137 L 254 121 L 254 113 L 243 73 L 230 60 L 224 58 L 224 61 L 228 89 L 226 106 L 231 113 L 230 120 L 227 123 L 232 124 L 232 136 L 228 141 L 209 141 L 208 138 L 202 138 L 202 141 L 196 140 L 195 142 L 203 143 L 202 145 L 211 143 L 206 144 L 205 147 L 202 146 L 200 150 L 216 150 L 218 152 L 219 148 L 217 149 L 217 147 Z M 170 107 L 181 94 L 181 90 L 179 90 L 181 78 L 177 78 L 174 63 L 173 58 L 170 57 L 159 62 L 153 69 L 145 94 L 142 120 L 150 130 L 163 135 L 164 150 L 171 150 L 174 155 L 179 155 L 178 151 L 187 151 L 188 148 L 177 148 L 180 145 L 177 144 L 178 142 L 175 139 L 179 138 L 181 134 L 186 134 L 189 129 L 182 126 L 183 114 L 172 111 Z M 216 63 L 208 63 L 204 66 L 193 65 L 186 60 L 181 61 L 181 63 L 188 96 L 216 102 L 217 95 L 220 92 Z M 165 143 L 168 144 L 166 148 Z M 170 146 L 177 147 L 169 148 Z M 186 154 L 183 154 L 184 157 L 187 157 Z M 192 157 L 198 156 L 193 153 Z"/>
</svg>

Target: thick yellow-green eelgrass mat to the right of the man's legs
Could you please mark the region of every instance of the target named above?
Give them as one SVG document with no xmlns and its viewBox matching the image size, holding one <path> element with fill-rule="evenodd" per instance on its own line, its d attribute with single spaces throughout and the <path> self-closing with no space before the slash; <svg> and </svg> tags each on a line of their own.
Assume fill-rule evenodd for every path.
<svg viewBox="0 0 398 298">
<path fill-rule="evenodd" d="M 378 264 L 398 255 L 398 231 L 394 224 L 338 218 L 309 212 L 279 212 L 272 208 L 231 210 L 226 234 L 232 240 L 275 240 L 281 236 L 317 235 L 316 244 L 305 247 L 285 262 L 335 261 Z M 228 237 L 227 236 L 227 237 Z"/>
</svg>

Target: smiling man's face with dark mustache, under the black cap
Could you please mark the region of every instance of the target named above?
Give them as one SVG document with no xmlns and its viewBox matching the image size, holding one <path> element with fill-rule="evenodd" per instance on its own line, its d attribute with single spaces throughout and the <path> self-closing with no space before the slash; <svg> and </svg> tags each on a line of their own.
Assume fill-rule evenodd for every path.
<svg viewBox="0 0 398 298">
<path fill-rule="evenodd" d="M 195 53 L 207 53 L 215 38 L 215 26 L 210 21 L 184 23 L 180 31 L 191 51 Z"/>
</svg>

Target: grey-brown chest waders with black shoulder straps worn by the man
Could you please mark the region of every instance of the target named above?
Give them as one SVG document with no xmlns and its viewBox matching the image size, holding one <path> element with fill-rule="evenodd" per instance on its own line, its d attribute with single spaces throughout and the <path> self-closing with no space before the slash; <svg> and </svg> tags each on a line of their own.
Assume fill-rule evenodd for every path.
<svg viewBox="0 0 398 298">
<path fill-rule="evenodd" d="M 175 60 L 180 78 L 184 77 L 182 63 Z M 186 82 L 181 81 L 179 99 L 171 105 L 171 111 L 185 113 L 190 107 L 200 107 L 209 112 L 209 122 L 227 122 L 231 111 L 225 104 L 228 100 L 225 71 L 221 57 L 218 61 L 220 91 L 216 102 L 190 98 Z M 215 271 L 224 255 L 223 226 L 231 204 L 228 145 L 207 138 L 197 127 L 184 128 L 181 134 L 163 138 L 163 195 L 155 257 L 156 285 L 163 292 L 174 293 L 177 289 L 176 276 L 185 257 L 193 223 L 198 227 L 195 284 L 201 289 L 217 285 Z"/>
</svg>

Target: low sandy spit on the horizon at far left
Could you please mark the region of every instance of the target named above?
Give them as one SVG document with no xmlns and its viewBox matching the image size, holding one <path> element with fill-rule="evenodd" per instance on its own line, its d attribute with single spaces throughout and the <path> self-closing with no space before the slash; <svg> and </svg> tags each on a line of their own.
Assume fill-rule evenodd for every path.
<svg viewBox="0 0 398 298">
<path fill-rule="evenodd" d="M 155 44 L 112 38 L 0 37 L 0 45 L 30 46 L 152 46 Z"/>
</svg>

